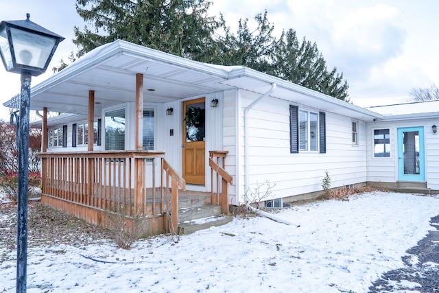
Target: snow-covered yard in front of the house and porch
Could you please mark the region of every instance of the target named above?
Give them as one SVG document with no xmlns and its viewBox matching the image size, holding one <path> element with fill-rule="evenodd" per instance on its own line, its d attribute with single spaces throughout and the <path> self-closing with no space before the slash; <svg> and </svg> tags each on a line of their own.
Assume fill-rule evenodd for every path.
<svg viewBox="0 0 439 293">
<path fill-rule="evenodd" d="M 368 292 L 383 272 L 403 266 L 438 213 L 437 196 L 376 192 L 277 213 L 299 228 L 236 218 L 131 250 L 112 242 L 29 248 L 27 292 Z M 14 252 L 0 255 L 9 259 L 0 264 L 0 292 L 14 292 Z"/>
</svg>

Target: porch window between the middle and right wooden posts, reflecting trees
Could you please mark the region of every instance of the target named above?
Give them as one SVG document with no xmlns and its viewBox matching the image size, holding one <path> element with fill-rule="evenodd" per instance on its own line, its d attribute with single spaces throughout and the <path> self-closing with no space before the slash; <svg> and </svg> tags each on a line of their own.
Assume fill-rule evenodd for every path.
<svg viewBox="0 0 439 293">
<path fill-rule="evenodd" d="M 125 150 L 125 109 L 105 113 L 105 150 Z"/>
</svg>

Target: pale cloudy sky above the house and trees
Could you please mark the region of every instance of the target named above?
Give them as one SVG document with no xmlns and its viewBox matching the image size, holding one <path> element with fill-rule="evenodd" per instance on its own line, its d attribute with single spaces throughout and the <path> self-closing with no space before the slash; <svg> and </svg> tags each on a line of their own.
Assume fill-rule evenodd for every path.
<svg viewBox="0 0 439 293">
<path fill-rule="evenodd" d="M 0 0 L 0 21 L 31 21 L 64 36 L 49 65 L 67 60 L 73 27 L 84 27 L 75 0 Z M 211 15 L 224 14 L 234 29 L 239 19 L 254 21 L 268 10 L 276 36 L 293 28 L 301 40 L 316 42 L 329 69 L 348 80 L 353 104 L 372 106 L 405 102 L 415 87 L 439 83 L 438 0 L 213 0 Z M 38 84 L 51 70 L 32 79 Z M 0 103 L 19 93 L 19 74 L 0 67 Z M 32 97 L 31 97 L 32 103 Z M 9 119 L 0 106 L 0 119 Z"/>
</svg>

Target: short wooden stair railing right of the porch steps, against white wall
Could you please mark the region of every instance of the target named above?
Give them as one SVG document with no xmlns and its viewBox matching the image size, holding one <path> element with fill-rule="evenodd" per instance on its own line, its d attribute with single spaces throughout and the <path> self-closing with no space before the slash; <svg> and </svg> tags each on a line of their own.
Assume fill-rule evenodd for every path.
<svg viewBox="0 0 439 293">
<path fill-rule="evenodd" d="M 211 204 L 218 204 L 222 207 L 222 213 L 228 214 L 228 184 L 233 184 L 233 178 L 226 172 L 225 159 L 228 151 L 209 151 L 209 167 L 211 167 Z M 219 165 L 222 163 L 222 165 Z M 214 180 L 215 172 L 216 180 Z M 220 195 L 219 181 L 222 183 L 222 194 Z M 214 188 L 214 182 L 216 186 Z"/>
</svg>

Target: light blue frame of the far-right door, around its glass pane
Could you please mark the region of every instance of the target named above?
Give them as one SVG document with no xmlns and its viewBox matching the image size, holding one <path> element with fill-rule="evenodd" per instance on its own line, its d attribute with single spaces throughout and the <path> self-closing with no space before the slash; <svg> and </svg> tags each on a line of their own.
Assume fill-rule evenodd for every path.
<svg viewBox="0 0 439 293">
<path fill-rule="evenodd" d="M 418 172 L 416 174 L 410 174 L 410 172 L 405 171 L 405 154 L 404 154 L 404 133 L 405 132 L 418 132 Z M 425 182 L 425 140 L 424 140 L 424 127 L 404 127 L 398 128 L 398 178 L 399 181 L 416 181 Z M 415 141 L 416 143 L 416 141 Z"/>
</svg>

